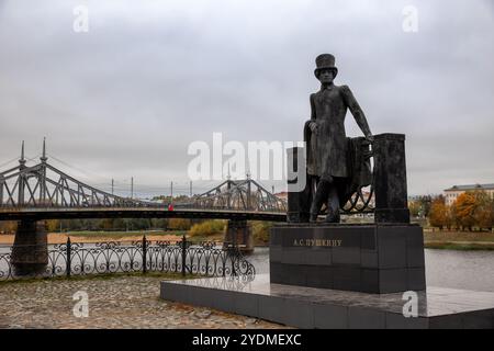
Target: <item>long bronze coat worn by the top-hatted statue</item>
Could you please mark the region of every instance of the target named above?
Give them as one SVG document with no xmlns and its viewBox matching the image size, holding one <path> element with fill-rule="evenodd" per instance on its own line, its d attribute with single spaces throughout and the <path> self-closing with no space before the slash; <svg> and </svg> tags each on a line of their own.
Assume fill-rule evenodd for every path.
<svg viewBox="0 0 494 351">
<path fill-rule="evenodd" d="M 307 143 L 307 173 L 324 178 L 348 177 L 348 140 L 345 116 L 350 110 L 360 129 L 370 135 L 363 111 L 347 86 L 332 86 L 311 94 L 311 120 L 305 123 L 304 140 Z M 316 133 L 308 127 L 317 124 Z"/>
</svg>

